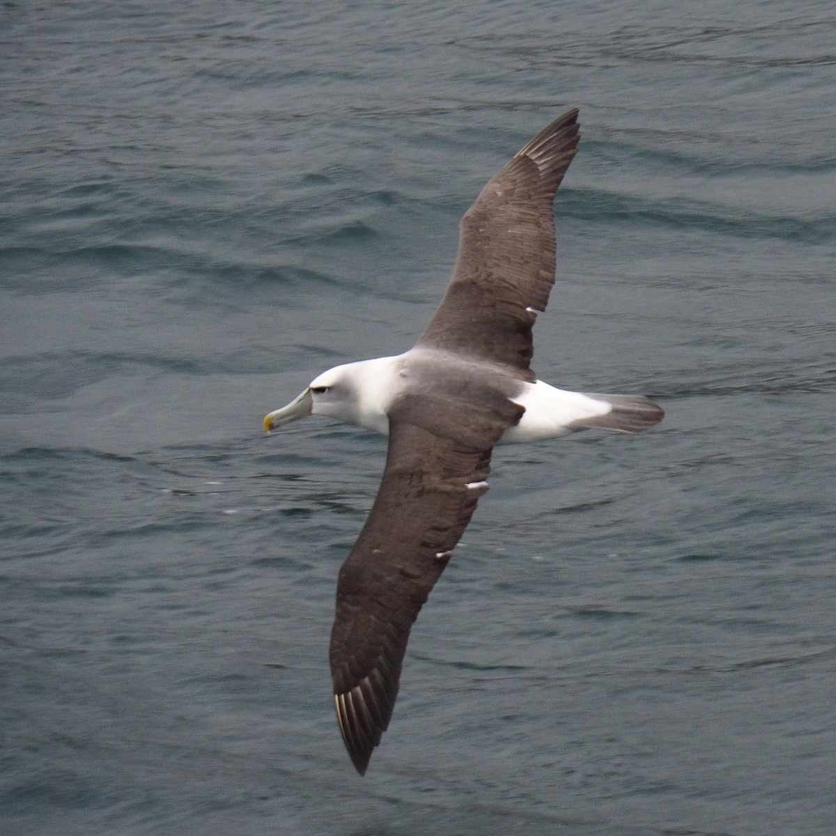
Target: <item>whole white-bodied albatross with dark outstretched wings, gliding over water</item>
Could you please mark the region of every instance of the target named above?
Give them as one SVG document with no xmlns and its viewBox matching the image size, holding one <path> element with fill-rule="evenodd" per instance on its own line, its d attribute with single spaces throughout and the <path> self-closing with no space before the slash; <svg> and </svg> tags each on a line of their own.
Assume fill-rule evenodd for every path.
<svg viewBox="0 0 836 836">
<path fill-rule="evenodd" d="M 569 110 L 461 219 L 456 265 L 415 347 L 336 366 L 264 419 L 329 415 L 389 436 L 380 490 L 337 582 L 330 662 L 339 730 L 363 775 L 389 725 L 410 628 L 487 491 L 493 446 L 584 429 L 633 433 L 665 414 L 639 395 L 555 389 L 531 370 L 554 283 L 555 193 L 578 150 Z"/>
</svg>

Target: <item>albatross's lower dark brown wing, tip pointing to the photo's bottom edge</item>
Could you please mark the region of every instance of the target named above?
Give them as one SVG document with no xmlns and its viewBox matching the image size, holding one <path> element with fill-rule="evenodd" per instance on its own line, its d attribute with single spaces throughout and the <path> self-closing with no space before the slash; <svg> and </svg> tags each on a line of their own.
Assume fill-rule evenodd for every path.
<svg viewBox="0 0 836 836">
<path fill-rule="evenodd" d="M 497 395 L 446 421 L 449 402 L 404 397 L 369 518 L 339 571 L 331 674 L 339 729 L 364 774 L 389 725 L 410 628 L 487 490 L 493 445 L 522 409 Z"/>
</svg>

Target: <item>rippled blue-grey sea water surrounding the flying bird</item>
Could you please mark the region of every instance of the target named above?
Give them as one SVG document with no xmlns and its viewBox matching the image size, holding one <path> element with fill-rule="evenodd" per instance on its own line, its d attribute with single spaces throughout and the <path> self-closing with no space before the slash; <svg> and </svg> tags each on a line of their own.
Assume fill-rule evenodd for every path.
<svg viewBox="0 0 836 836">
<path fill-rule="evenodd" d="M 0 831 L 836 831 L 834 31 L 4 3 Z M 360 778 L 327 643 L 385 440 L 261 419 L 410 347 L 573 105 L 535 369 L 667 417 L 497 451 Z"/>
</svg>

